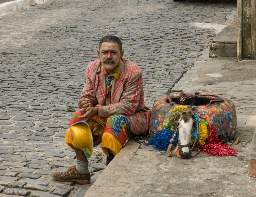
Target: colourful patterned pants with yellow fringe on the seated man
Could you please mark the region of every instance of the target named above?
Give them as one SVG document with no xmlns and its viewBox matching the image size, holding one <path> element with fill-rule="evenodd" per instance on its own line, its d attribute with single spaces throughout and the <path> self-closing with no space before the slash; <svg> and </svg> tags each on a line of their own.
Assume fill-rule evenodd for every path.
<svg viewBox="0 0 256 197">
<path fill-rule="evenodd" d="M 79 119 L 78 116 L 82 116 L 83 112 L 78 110 L 70 118 L 69 128 L 66 133 L 66 143 L 72 144 L 70 137 L 70 126 L 83 119 Z M 133 136 L 130 131 L 130 117 L 115 114 L 108 118 L 98 118 L 96 115 L 88 122 L 93 135 L 93 145 L 97 146 L 101 143 L 103 152 L 109 156 L 109 150 L 116 155 L 124 146 L 127 139 Z M 71 147 L 72 148 L 72 147 Z"/>
</svg>

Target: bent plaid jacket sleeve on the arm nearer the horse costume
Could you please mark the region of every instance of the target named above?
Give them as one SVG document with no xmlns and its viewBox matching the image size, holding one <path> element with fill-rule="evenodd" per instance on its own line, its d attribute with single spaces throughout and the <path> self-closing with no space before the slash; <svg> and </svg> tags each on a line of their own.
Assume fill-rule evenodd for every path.
<svg viewBox="0 0 256 197">
<path fill-rule="evenodd" d="M 128 80 L 124 84 L 120 102 L 108 106 L 97 105 L 99 117 L 109 117 L 113 114 L 132 115 L 136 112 L 143 88 L 142 73 L 140 69 L 131 69 L 127 75 Z"/>
</svg>

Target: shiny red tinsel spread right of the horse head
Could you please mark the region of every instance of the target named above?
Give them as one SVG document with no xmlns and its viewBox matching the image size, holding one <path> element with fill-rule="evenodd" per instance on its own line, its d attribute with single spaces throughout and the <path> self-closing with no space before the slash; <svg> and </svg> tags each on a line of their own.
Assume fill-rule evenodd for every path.
<svg viewBox="0 0 256 197">
<path fill-rule="evenodd" d="M 238 153 L 237 150 L 234 150 L 227 146 L 226 144 L 222 144 L 218 140 L 218 133 L 214 126 L 208 123 L 208 140 L 205 145 L 196 144 L 196 147 L 200 149 L 206 155 L 213 155 L 215 157 L 221 156 L 230 156 L 236 155 Z"/>
</svg>

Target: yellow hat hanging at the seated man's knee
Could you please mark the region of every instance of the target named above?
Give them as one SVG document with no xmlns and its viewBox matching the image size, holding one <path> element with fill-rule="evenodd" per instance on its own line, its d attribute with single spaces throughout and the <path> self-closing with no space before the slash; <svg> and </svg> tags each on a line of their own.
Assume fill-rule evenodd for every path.
<svg viewBox="0 0 256 197">
<path fill-rule="evenodd" d="M 70 137 L 75 148 L 83 150 L 85 157 L 91 157 L 93 153 L 93 135 L 89 124 L 79 121 L 71 125 Z"/>
</svg>

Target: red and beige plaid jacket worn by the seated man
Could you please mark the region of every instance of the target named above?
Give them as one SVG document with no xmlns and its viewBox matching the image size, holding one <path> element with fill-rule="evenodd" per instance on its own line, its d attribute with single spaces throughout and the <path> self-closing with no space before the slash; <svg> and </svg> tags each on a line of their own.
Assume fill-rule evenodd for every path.
<svg viewBox="0 0 256 197">
<path fill-rule="evenodd" d="M 130 117 L 131 131 L 135 135 L 146 135 L 150 109 L 144 104 L 141 69 L 130 60 L 121 58 L 119 79 L 113 78 L 111 104 L 106 105 L 107 83 L 100 60 L 90 62 L 85 74 L 81 98 L 88 98 L 98 108 L 98 117 L 123 114 Z"/>
</svg>

